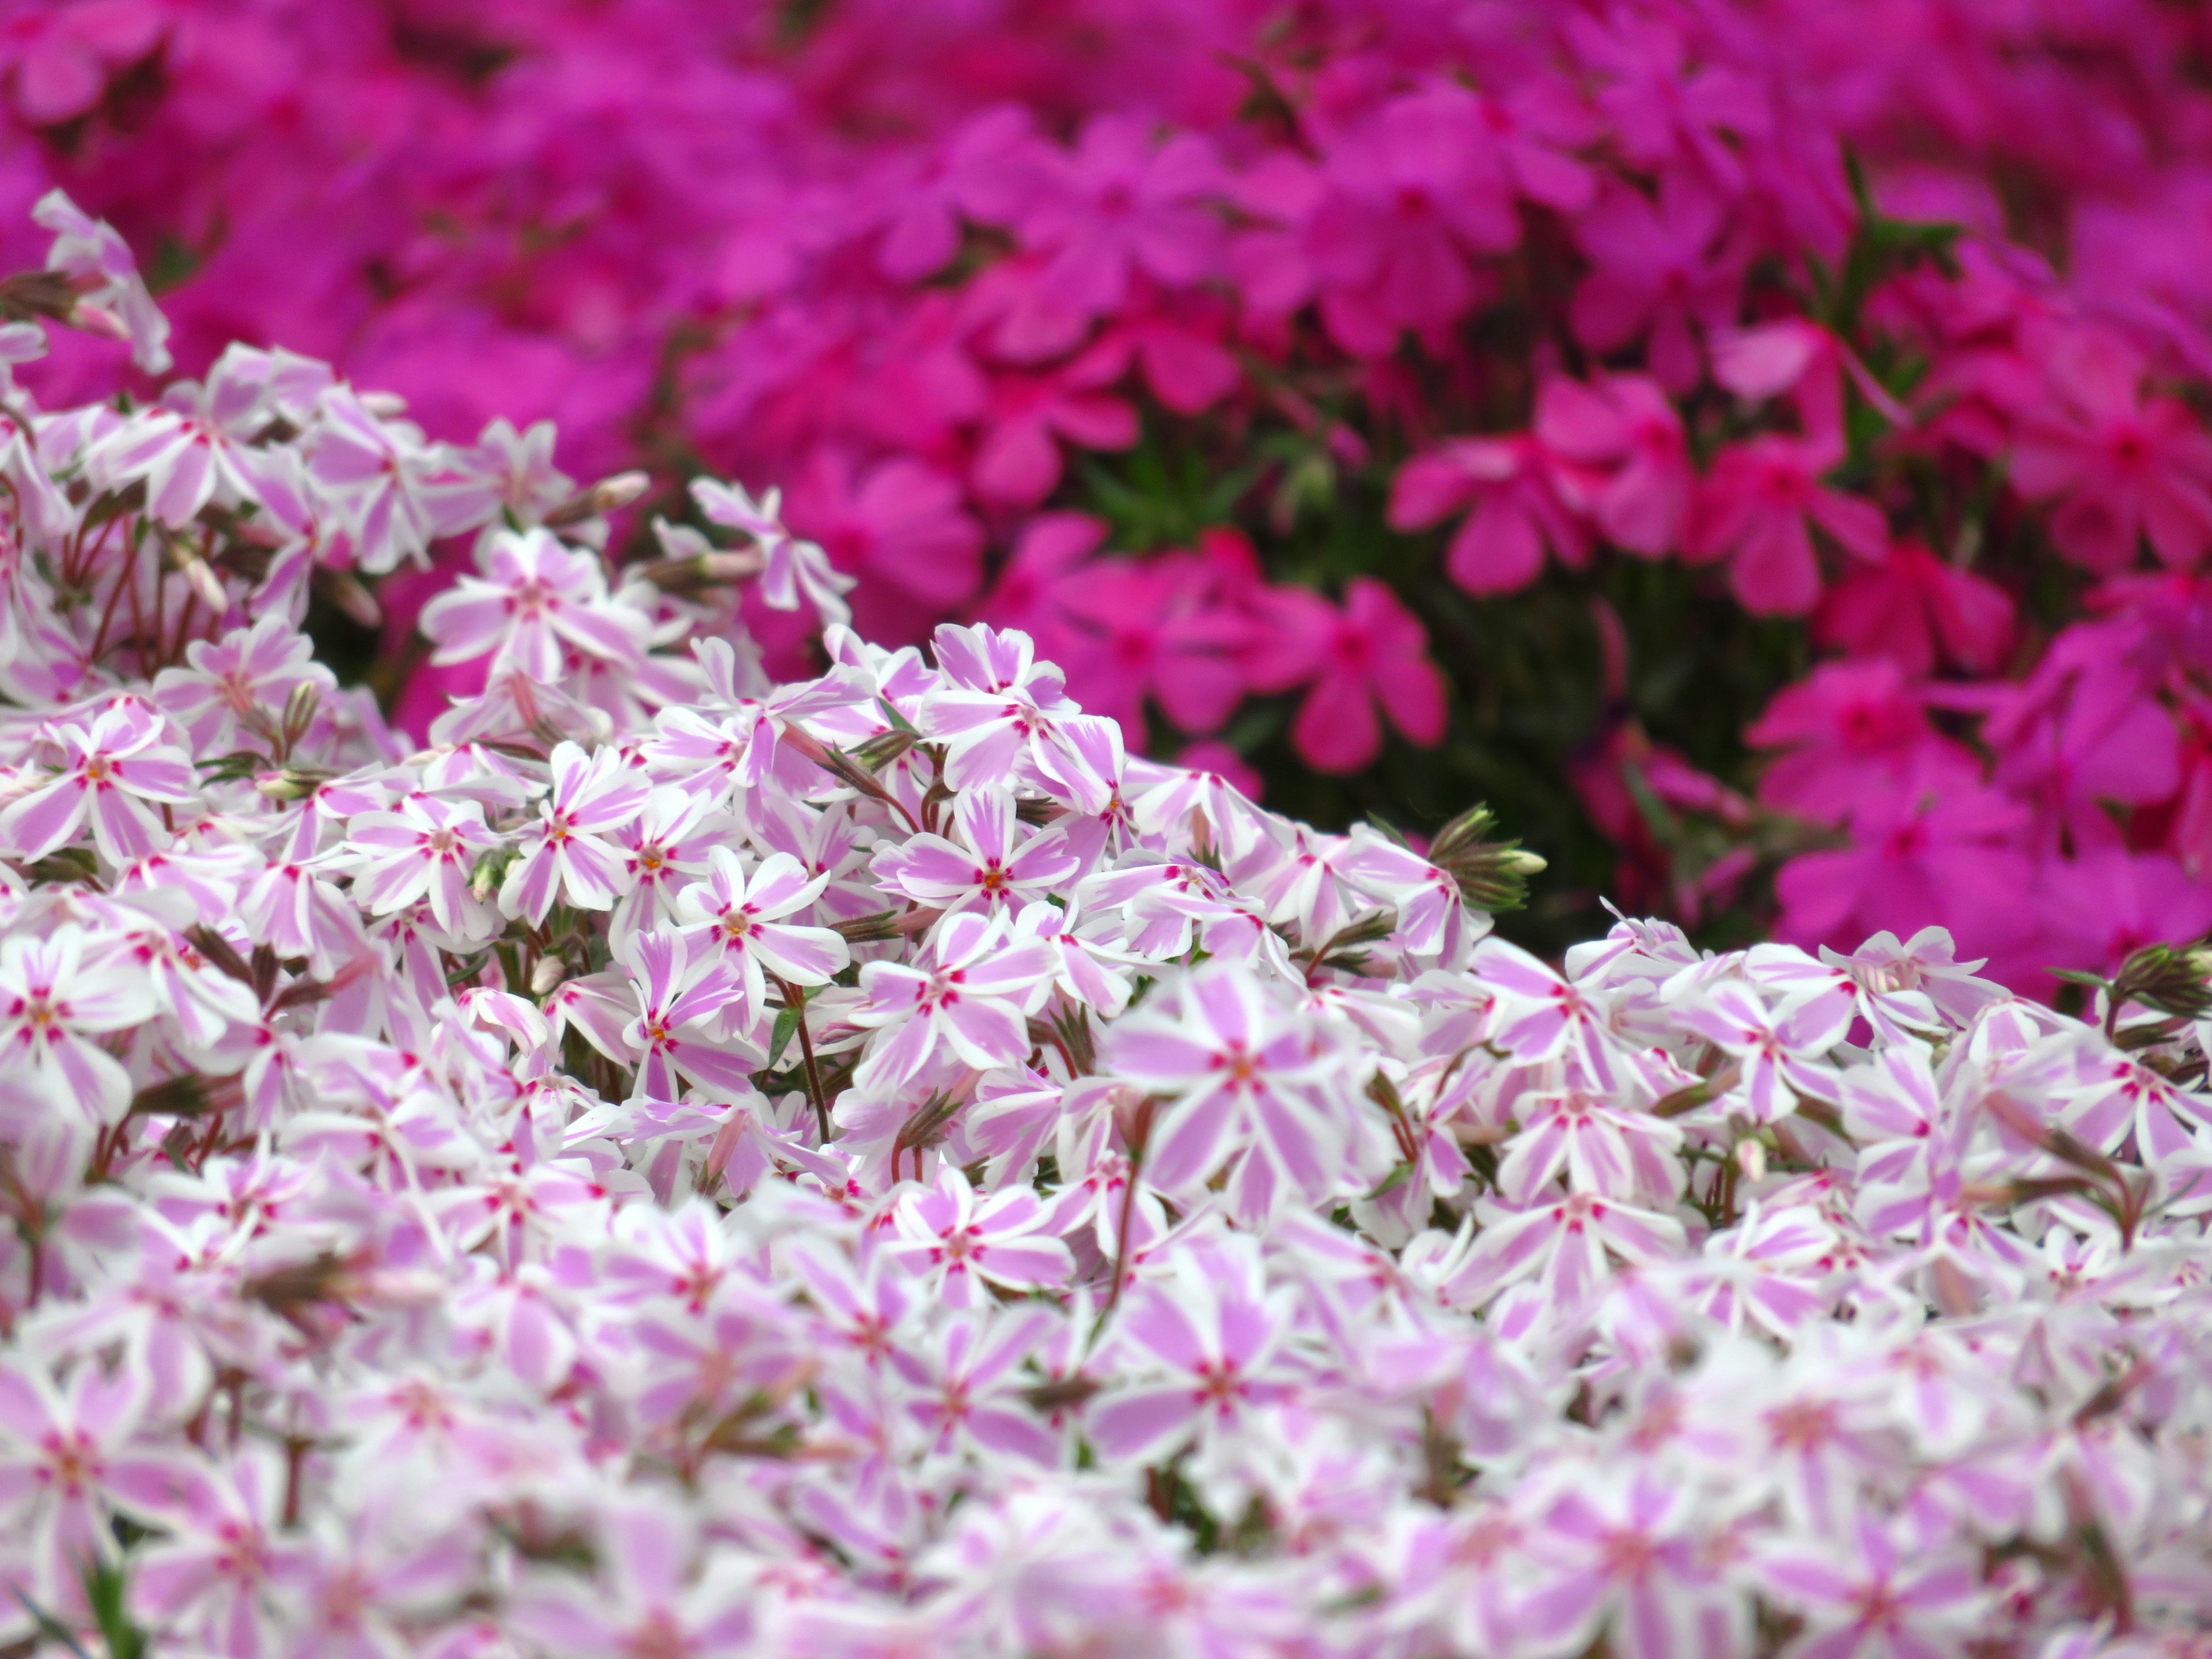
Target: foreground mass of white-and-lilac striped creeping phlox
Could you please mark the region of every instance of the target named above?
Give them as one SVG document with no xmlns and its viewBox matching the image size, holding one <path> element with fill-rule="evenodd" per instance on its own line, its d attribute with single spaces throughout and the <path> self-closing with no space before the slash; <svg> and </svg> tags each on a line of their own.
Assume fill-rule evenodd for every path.
<svg viewBox="0 0 2212 1659">
<path fill-rule="evenodd" d="M 18 312 L 159 345 L 66 201 Z M 0 343 L 42 345 L 24 321 Z M 230 352 L 7 398 L 0 1639 L 2088 1655 L 2212 1617 L 2208 964 L 1498 940 L 1533 860 L 880 650 L 772 502 Z M 476 529 L 396 741 L 314 584 Z M 717 588 L 708 577 L 719 580 Z M 825 622 L 770 684 L 728 582 Z M 708 595 L 708 597 L 699 597 Z M 801 611 L 805 608 L 805 611 Z"/>
</svg>

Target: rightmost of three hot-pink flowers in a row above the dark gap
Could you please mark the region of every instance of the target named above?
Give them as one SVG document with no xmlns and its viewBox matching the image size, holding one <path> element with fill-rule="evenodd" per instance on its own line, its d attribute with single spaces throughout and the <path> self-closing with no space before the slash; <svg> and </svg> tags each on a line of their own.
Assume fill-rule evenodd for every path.
<svg viewBox="0 0 2212 1659">
<path fill-rule="evenodd" d="M 1812 611 L 1820 597 L 1820 560 L 1809 526 L 1863 560 L 1889 551 L 1882 509 L 1820 482 L 1840 458 L 1827 445 L 1772 434 L 1730 445 L 1699 484 L 1683 553 L 1730 560 L 1728 584 L 1754 615 Z"/>
</svg>

